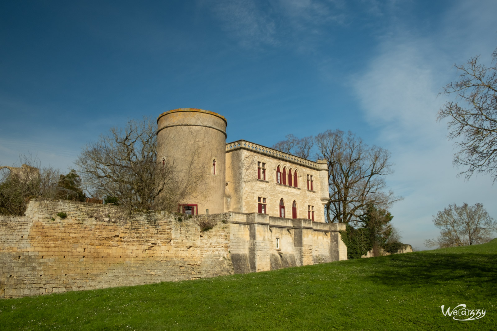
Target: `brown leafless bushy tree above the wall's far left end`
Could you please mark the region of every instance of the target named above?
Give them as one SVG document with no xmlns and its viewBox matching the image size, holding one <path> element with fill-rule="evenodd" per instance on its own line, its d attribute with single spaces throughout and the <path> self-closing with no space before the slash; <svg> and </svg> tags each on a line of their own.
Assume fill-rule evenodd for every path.
<svg viewBox="0 0 497 331">
<path fill-rule="evenodd" d="M 0 214 L 23 215 L 29 199 L 55 198 L 59 170 L 41 168 L 30 155 L 20 156 L 20 163 L 20 167 L 0 166 Z"/>
</svg>

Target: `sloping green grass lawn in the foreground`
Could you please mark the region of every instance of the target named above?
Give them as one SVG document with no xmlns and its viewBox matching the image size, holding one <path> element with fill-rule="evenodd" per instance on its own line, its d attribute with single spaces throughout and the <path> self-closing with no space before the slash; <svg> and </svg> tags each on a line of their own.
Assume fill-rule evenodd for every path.
<svg viewBox="0 0 497 331">
<path fill-rule="evenodd" d="M 488 244 L 192 281 L 0 299 L 1 330 L 496 330 Z M 455 321 L 466 304 L 485 317 Z"/>
</svg>

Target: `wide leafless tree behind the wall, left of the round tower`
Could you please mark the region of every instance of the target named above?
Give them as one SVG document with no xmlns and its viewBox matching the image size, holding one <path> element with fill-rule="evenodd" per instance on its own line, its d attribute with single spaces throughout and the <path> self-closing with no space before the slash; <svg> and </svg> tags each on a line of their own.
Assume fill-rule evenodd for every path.
<svg viewBox="0 0 497 331">
<path fill-rule="evenodd" d="M 173 162 L 157 159 L 156 127 L 150 119 L 131 120 L 83 147 L 75 163 L 85 190 L 130 208 L 174 210 L 189 186 L 175 176 Z"/>
</svg>

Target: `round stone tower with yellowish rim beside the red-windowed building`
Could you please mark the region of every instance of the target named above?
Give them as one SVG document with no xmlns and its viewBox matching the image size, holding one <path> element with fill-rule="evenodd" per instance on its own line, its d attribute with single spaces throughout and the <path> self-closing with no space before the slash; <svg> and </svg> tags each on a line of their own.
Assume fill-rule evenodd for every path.
<svg viewBox="0 0 497 331">
<path fill-rule="evenodd" d="M 157 159 L 174 169 L 186 196 L 179 211 L 224 212 L 226 119 L 214 112 L 178 108 L 157 119 Z"/>
</svg>

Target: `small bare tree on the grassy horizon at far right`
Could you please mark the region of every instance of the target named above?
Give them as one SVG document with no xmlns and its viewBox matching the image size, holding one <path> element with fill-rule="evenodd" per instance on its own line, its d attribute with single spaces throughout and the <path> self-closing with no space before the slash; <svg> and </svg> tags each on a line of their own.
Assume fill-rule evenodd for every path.
<svg viewBox="0 0 497 331">
<path fill-rule="evenodd" d="M 469 206 L 449 204 L 443 211 L 433 216 L 435 226 L 440 229 L 436 239 L 428 239 L 424 244 L 439 248 L 483 244 L 494 239 L 497 222 L 490 217 L 483 204 Z"/>
</svg>

